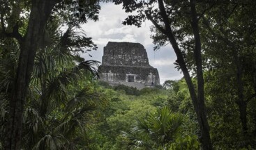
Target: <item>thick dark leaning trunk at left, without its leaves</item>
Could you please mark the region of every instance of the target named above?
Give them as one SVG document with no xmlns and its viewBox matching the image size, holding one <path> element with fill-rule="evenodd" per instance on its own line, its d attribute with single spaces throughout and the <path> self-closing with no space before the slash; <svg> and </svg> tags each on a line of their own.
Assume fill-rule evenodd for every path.
<svg viewBox="0 0 256 150">
<path fill-rule="evenodd" d="M 5 140 L 5 149 L 21 149 L 22 116 L 27 89 L 33 71 L 33 63 L 42 38 L 45 24 L 57 1 L 32 0 L 27 33 L 20 42 L 20 57 L 13 97 L 10 99 L 10 119 Z"/>
</svg>

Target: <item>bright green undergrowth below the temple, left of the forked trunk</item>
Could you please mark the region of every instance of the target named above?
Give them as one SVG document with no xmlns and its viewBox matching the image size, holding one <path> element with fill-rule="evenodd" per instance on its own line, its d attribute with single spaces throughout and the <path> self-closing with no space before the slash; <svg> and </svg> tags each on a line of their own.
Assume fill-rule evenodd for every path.
<svg viewBox="0 0 256 150">
<path fill-rule="evenodd" d="M 106 83 L 100 85 L 106 87 Z M 182 145 L 182 137 L 193 139 L 190 142 L 199 149 L 196 132 L 191 130 L 197 124 L 193 117 L 188 117 L 191 112 L 181 113 L 170 105 L 173 90 L 144 88 L 137 90 L 139 95 L 132 95 L 126 92 L 135 88 L 123 88 L 103 87 L 109 103 L 89 136 L 94 141 L 91 149 L 171 149 Z M 165 117 L 158 120 L 161 116 Z"/>
</svg>

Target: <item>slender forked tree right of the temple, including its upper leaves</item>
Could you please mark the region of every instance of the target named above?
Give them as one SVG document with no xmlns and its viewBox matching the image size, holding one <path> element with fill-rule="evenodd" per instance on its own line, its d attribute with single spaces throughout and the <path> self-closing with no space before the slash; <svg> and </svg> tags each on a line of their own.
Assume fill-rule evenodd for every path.
<svg viewBox="0 0 256 150">
<path fill-rule="evenodd" d="M 116 1 L 116 3 L 121 3 L 121 1 Z M 158 9 L 153 6 L 153 3 L 157 3 Z M 195 113 L 197 114 L 197 121 L 199 123 L 199 128 L 201 131 L 200 140 L 202 142 L 202 147 L 203 149 L 213 149 L 204 104 L 204 77 L 202 70 L 201 54 L 202 52 L 198 24 L 199 15 L 196 10 L 196 5 L 197 3 L 195 0 L 190 0 L 189 3 L 186 1 L 165 1 L 164 3 L 163 0 L 149 1 L 149 3 L 146 3 L 144 1 L 140 1 L 138 3 L 136 3 L 135 1 L 123 1 L 123 8 L 125 8 L 127 12 L 137 9 L 137 12 L 139 12 L 139 15 L 129 16 L 124 24 L 135 24 L 137 26 L 140 26 L 142 20 L 146 17 L 146 19 L 149 19 L 153 23 L 153 25 L 157 28 L 158 32 L 165 35 L 165 40 L 172 44 L 172 48 L 174 49 L 174 52 L 177 56 L 176 63 L 181 68 L 184 78 L 186 79 L 186 83 L 190 92 L 190 97 L 193 101 L 193 106 L 195 108 Z M 194 54 L 193 58 L 195 60 L 195 67 L 197 73 L 197 90 L 195 90 L 195 86 L 193 85 L 192 78 L 188 71 L 188 66 L 186 65 L 183 51 L 181 50 L 178 43 L 179 35 L 176 35 L 178 33 L 174 32 L 176 30 L 174 26 L 177 22 L 179 22 L 177 16 L 181 17 L 180 13 L 183 13 L 183 15 L 186 15 L 186 13 L 190 14 L 187 15 L 188 19 L 190 20 L 190 27 L 188 28 L 188 30 L 190 31 L 186 33 L 186 31 L 184 30 L 183 32 L 185 32 L 185 34 L 187 35 L 193 35 L 194 39 L 194 46 L 192 47 Z"/>
</svg>

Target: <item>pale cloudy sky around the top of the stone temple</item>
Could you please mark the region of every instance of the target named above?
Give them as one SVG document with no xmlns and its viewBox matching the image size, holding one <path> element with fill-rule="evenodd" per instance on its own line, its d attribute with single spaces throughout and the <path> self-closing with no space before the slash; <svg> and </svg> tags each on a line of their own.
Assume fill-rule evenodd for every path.
<svg viewBox="0 0 256 150">
<path fill-rule="evenodd" d="M 121 24 L 129 15 L 122 10 L 122 6 L 116 6 L 114 3 L 100 3 L 101 10 L 98 22 L 89 21 L 82 25 L 82 29 L 88 37 L 93 38 L 97 44 L 98 50 L 82 54 L 86 60 L 102 61 L 103 47 L 107 42 L 138 42 L 144 46 L 149 57 L 149 64 L 158 69 L 160 83 L 167 80 L 177 80 L 183 75 L 175 69 L 174 62 L 176 55 L 170 44 L 153 51 L 153 40 L 150 38 L 151 22 L 142 23 L 142 27 L 124 26 Z"/>
</svg>

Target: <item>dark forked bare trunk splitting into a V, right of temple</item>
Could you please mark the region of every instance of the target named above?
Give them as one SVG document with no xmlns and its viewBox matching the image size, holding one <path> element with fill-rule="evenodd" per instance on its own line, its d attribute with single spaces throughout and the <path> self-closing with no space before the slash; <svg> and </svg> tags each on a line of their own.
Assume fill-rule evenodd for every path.
<svg viewBox="0 0 256 150">
<path fill-rule="evenodd" d="M 193 32 L 195 36 L 194 57 L 195 57 L 196 66 L 197 66 L 197 83 L 198 83 L 197 94 L 195 92 L 192 79 L 188 72 L 188 68 L 186 67 L 185 60 L 181 53 L 181 49 L 179 49 L 179 45 L 177 44 L 176 39 L 174 38 L 174 35 L 172 33 L 172 28 L 170 26 L 170 22 L 167 17 L 167 14 L 165 12 L 163 0 L 158 0 L 158 6 L 160 10 L 160 15 L 163 18 L 163 22 L 165 24 L 165 30 L 163 30 L 163 28 L 160 28 L 159 26 L 156 26 L 156 27 L 160 29 L 160 31 L 163 31 L 165 35 L 167 35 L 167 38 L 170 40 L 170 43 L 172 44 L 174 52 L 176 53 L 176 56 L 177 56 L 176 62 L 179 63 L 179 66 L 181 67 L 184 78 L 188 85 L 188 90 L 190 92 L 190 97 L 192 99 L 193 106 L 195 108 L 195 113 L 197 114 L 197 121 L 198 121 L 200 132 L 201 132 L 200 142 L 202 142 L 203 149 L 211 150 L 213 149 L 213 147 L 211 144 L 209 124 L 207 122 L 205 106 L 204 106 L 204 78 L 203 78 L 203 72 L 202 72 L 201 42 L 199 37 L 199 29 L 198 29 L 197 16 L 195 11 L 195 1 L 190 1 L 190 7 L 191 7 L 191 13 L 193 17 L 192 18 Z M 153 24 L 156 24 L 156 22 L 153 22 Z"/>
</svg>

